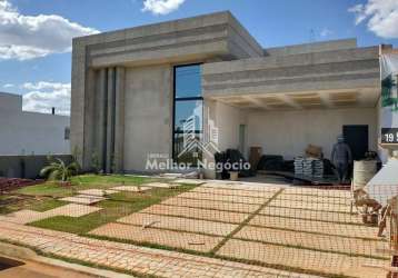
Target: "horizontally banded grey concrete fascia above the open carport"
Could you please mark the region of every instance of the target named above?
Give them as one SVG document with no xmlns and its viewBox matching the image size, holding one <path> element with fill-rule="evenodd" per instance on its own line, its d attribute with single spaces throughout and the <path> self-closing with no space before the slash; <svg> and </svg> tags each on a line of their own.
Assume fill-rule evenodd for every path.
<svg viewBox="0 0 398 278">
<path fill-rule="evenodd" d="M 378 48 L 243 59 L 202 66 L 203 96 L 379 87 Z"/>
</svg>

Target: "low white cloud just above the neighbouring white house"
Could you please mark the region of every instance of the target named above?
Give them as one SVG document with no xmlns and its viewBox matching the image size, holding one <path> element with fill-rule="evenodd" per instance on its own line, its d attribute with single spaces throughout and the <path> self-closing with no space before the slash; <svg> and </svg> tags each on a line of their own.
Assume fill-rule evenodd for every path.
<svg viewBox="0 0 398 278">
<path fill-rule="evenodd" d="M 51 112 L 70 115 L 70 83 L 44 82 L 24 83 L 21 88 L 29 90 L 23 95 L 23 110 L 32 112 Z"/>
</svg>

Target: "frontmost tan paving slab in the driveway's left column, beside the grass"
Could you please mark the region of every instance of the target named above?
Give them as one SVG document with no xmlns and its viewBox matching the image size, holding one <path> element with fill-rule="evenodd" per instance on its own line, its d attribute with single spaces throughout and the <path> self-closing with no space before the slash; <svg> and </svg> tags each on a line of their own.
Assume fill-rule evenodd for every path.
<svg viewBox="0 0 398 278">
<path fill-rule="evenodd" d="M 196 251 L 210 251 L 217 246 L 218 242 L 222 240 L 222 237 L 203 236 L 155 228 L 142 229 L 141 227 L 122 224 L 103 225 L 90 231 L 90 235 L 135 240 L 140 242 L 151 242 Z"/>
</svg>

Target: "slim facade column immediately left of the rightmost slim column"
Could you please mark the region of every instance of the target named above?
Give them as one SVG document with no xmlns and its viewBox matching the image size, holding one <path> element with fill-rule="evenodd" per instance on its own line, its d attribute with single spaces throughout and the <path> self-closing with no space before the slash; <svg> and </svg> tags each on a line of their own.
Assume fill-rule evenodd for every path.
<svg viewBox="0 0 398 278">
<path fill-rule="evenodd" d="M 115 107 L 116 107 L 116 69 L 108 69 L 108 115 L 107 115 L 107 172 L 115 169 Z"/>
</svg>

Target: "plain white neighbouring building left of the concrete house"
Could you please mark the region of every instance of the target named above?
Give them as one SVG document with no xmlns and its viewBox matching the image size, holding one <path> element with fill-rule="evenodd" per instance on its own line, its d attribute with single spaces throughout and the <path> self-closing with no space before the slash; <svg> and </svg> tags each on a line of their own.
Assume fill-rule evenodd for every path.
<svg viewBox="0 0 398 278">
<path fill-rule="evenodd" d="M 22 97 L 0 92 L 0 156 L 69 155 L 70 118 L 22 111 Z"/>
</svg>

